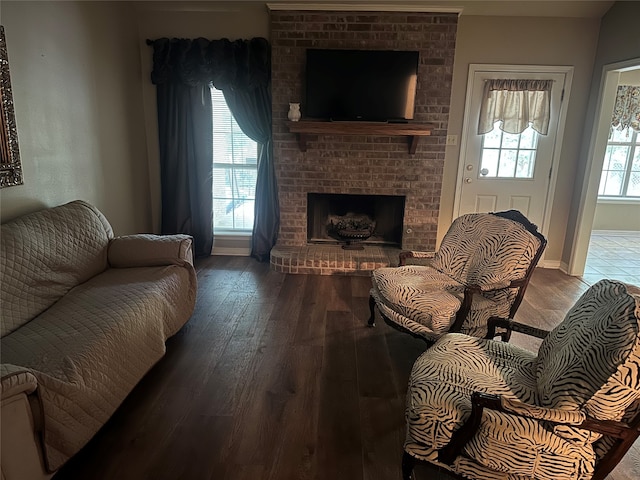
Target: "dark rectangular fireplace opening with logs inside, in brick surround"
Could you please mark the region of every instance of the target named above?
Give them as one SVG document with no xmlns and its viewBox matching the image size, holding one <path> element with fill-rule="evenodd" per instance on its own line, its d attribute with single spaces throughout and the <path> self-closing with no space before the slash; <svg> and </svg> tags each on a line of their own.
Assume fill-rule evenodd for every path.
<svg viewBox="0 0 640 480">
<path fill-rule="evenodd" d="M 308 193 L 307 242 L 400 248 L 404 204 L 402 195 Z"/>
</svg>

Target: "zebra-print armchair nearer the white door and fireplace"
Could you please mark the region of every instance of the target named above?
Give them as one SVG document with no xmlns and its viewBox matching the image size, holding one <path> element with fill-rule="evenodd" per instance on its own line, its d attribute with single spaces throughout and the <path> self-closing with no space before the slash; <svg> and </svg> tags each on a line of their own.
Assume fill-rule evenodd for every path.
<svg viewBox="0 0 640 480">
<path fill-rule="evenodd" d="M 462 215 L 437 252 L 401 252 L 399 267 L 371 273 L 369 325 L 377 306 L 388 324 L 430 342 L 447 332 L 484 337 L 489 318 L 515 315 L 546 244 L 517 210 Z"/>
</svg>

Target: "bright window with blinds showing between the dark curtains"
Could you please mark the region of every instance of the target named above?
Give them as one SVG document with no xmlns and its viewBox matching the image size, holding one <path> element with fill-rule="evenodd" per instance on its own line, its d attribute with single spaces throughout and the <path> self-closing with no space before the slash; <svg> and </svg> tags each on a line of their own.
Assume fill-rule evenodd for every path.
<svg viewBox="0 0 640 480">
<path fill-rule="evenodd" d="M 213 226 L 216 233 L 253 229 L 258 145 L 233 118 L 222 91 L 211 87 L 213 105 Z"/>
</svg>

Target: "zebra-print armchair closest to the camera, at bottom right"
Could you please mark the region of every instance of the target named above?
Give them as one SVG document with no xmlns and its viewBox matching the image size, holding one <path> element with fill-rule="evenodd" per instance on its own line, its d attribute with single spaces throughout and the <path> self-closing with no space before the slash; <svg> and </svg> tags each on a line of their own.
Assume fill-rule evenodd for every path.
<svg viewBox="0 0 640 480">
<path fill-rule="evenodd" d="M 444 335 L 413 366 L 405 418 L 405 480 L 416 461 L 475 480 L 604 479 L 640 434 L 640 288 L 596 283 L 537 355 Z"/>
</svg>

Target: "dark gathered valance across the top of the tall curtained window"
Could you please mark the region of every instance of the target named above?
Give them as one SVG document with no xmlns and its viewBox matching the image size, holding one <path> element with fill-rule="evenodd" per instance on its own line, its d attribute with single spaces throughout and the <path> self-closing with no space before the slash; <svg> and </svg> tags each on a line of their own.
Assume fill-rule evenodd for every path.
<svg viewBox="0 0 640 480">
<path fill-rule="evenodd" d="M 160 38 L 153 45 L 155 85 L 213 83 L 219 90 L 266 88 L 271 81 L 271 46 L 265 38 L 207 40 Z"/>
</svg>

